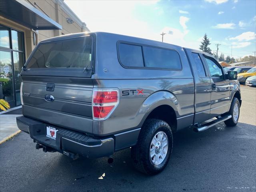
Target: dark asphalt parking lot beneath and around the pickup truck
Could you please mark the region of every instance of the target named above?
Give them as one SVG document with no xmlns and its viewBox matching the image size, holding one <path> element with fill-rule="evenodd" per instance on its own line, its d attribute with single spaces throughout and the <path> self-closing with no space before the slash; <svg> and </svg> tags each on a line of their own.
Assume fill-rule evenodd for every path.
<svg viewBox="0 0 256 192">
<path fill-rule="evenodd" d="M 36 150 L 22 132 L 0 145 L 0 191 L 256 191 L 256 88 L 241 90 L 238 125 L 174 134 L 170 162 L 156 176 L 133 168 L 130 149 L 114 154 L 113 164 L 71 160 Z"/>
</svg>

